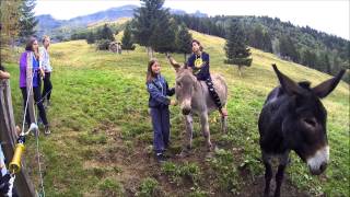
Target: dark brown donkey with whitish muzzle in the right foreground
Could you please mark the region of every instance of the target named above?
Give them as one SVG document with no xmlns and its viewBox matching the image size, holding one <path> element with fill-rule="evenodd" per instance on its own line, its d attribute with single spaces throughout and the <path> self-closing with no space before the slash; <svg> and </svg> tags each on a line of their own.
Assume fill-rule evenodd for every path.
<svg viewBox="0 0 350 197">
<path fill-rule="evenodd" d="M 280 196 L 291 150 L 307 163 L 312 174 L 318 175 L 326 170 L 329 161 L 327 112 L 319 99 L 326 97 L 345 73 L 345 70 L 341 70 L 335 78 L 310 88 L 310 82 L 295 83 L 280 72 L 276 65 L 272 67 L 281 85 L 269 93 L 258 123 L 266 170 L 265 196 L 270 192 L 272 178 L 270 160 L 273 157 L 279 159 L 275 196 Z"/>
</svg>

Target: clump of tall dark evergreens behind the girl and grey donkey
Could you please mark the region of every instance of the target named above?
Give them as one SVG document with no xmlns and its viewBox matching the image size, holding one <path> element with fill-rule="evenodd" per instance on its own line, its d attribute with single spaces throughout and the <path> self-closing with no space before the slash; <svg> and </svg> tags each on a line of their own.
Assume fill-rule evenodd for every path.
<svg viewBox="0 0 350 197">
<path fill-rule="evenodd" d="M 149 57 L 153 57 L 153 51 L 180 53 L 186 59 L 192 37 L 186 25 L 177 23 L 163 4 L 164 0 L 141 0 L 130 23 L 131 40 L 147 47 Z"/>
</svg>

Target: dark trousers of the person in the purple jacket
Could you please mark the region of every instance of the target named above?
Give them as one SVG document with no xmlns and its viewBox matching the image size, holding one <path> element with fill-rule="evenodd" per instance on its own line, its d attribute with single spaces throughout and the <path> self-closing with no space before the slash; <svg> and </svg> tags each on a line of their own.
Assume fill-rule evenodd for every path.
<svg viewBox="0 0 350 197">
<path fill-rule="evenodd" d="M 26 88 L 21 88 L 22 91 L 22 96 L 23 96 L 23 106 L 25 109 L 25 104 L 26 104 L 26 99 L 27 99 L 27 93 L 26 93 Z M 44 125 L 48 125 L 47 123 L 47 118 L 46 118 L 46 112 L 43 105 L 43 100 L 42 100 L 42 94 L 40 94 L 40 88 L 39 86 L 33 86 L 33 94 L 34 94 L 34 101 L 36 103 L 36 106 L 39 111 L 39 116 L 43 120 Z M 25 114 L 25 120 L 28 124 L 28 126 L 31 125 L 31 118 L 30 118 L 30 112 L 28 109 L 26 109 L 26 114 Z"/>
</svg>

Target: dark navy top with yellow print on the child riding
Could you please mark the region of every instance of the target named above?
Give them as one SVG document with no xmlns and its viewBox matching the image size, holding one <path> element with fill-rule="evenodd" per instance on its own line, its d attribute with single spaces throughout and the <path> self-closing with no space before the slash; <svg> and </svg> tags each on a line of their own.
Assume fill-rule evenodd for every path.
<svg viewBox="0 0 350 197">
<path fill-rule="evenodd" d="M 205 81 L 210 78 L 209 54 L 205 51 L 201 53 L 201 56 L 192 54 L 187 60 L 187 66 L 192 68 L 197 80 Z"/>
</svg>

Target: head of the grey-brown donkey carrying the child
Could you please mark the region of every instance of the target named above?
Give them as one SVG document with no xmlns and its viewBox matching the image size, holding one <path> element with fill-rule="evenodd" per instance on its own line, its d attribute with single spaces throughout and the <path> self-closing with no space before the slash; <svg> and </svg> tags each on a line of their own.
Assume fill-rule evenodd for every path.
<svg viewBox="0 0 350 197">
<path fill-rule="evenodd" d="M 188 115 L 191 111 L 191 97 L 196 89 L 197 79 L 186 63 L 182 66 L 170 55 L 166 55 L 166 57 L 176 71 L 176 100 L 183 114 Z"/>
</svg>

